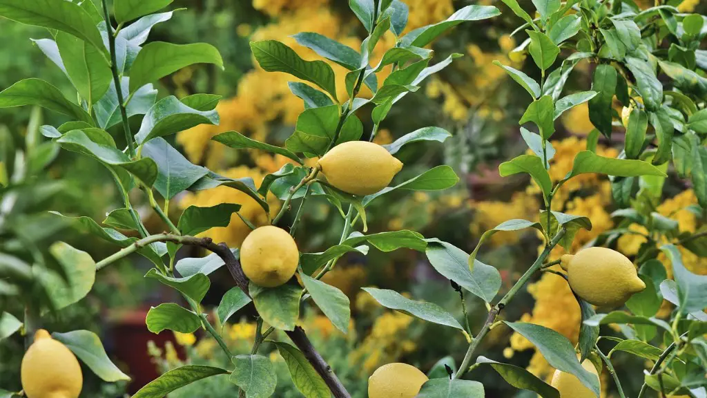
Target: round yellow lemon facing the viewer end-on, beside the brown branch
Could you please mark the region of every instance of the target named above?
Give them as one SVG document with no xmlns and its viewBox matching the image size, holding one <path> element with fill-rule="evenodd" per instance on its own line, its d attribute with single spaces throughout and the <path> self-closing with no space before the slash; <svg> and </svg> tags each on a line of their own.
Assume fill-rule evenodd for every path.
<svg viewBox="0 0 707 398">
<path fill-rule="evenodd" d="M 284 229 L 267 225 L 250 232 L 240 245 L 243 273 L 265 288 L 286 283 L 297 271 L 300 254 L 295 239 Z"/>
</svg>

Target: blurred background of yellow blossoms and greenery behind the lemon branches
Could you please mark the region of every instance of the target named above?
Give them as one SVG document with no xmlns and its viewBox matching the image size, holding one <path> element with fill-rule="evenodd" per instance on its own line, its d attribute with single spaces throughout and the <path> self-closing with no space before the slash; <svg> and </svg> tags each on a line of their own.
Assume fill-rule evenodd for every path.
<svg viewBox="0 0 707 398">
<path fill-rule="evenodd" d="M 469 4 L 452 0 L 404 2 L 410 9 L 407 30 L 441 21 Z M 493 3 L 503 14 L 491 20 L 459 25 L 436 41 L 433 49 L 437 61 L 453 52 L 462 53 L 464 57 L 427 79 L 423 89 L 397 103 L 375 137 L 375 142 L 386 144 L 420 127 L 444 127 L 453 135 L 444 144 L 405 147 L 401 159 L 406 167 L 397 178 L 403 181 L 431 166 L 448 164 L 460 176 L 460 183 L 446 191 L 395 191 L 384 196 L 369 207 L 370 232 L 413 229 L 425 237 L 449 241 L 468 252 L 474 248 L 481 233 L 496 224 L 511 218 L 537 220 L 541 205 L 539 188 L 529 178 L 500 178 L 497 171 L 501 161 L 527 149 L 520 137 L 518 120 L 530 97 L 491 62 L 497 59 L 523 69 L 531 76 L 539 72 L 530 65 L 532 60 L 526 62 L 525 55 L 513 51 L 525 40 L 522 34 L 518 38 L 509 35 L 520 25 L 520 20 L 500 1 L 479 0 L 477 3 Z M 704 13 L 707 4 L 700 3 L 699 0 L 686 0 L 679 8 Z M 530 1 L 521 4 L 525 9 L 532 9 Z M 173 3 L 173 9 L 182 7 L 186 9 L 175 11 L 170 21 L 153 28 L 151 40 L 209 42 L 221 51 L 226 70 L 197 65 L 160 81 L 159 96 L 173 94 L 181 98 L 192 93 L 223 96 L 217 108 L 221 125 L 195 127 L 172 139 L 192 162 L 208 166 L 224 176 L 250 176 L 259 183 L 263 176 L 279 170 L 288 159 L 255 150 L 235 151 L 210 141 L 210 138 L 219 132 L 236 130 L 257 140 L 282 144 L 293 132 L 303 103 L 288 90 L 290 76 L 267 73 L 254 66 L 248 42 L 280 40 L 305 59 L 315 59 L 310 50 L 297 45 L 290 36 L 312 31 L 358 48 L 363 28 L 343 0 L 177 0 Z M 30 41 L 45 37 L 47 32 L 40 28 L 0 18 L 0 40 L 3 42 L 0 46 L 0 89 L 6 89 L 20 79 L 42 76 L 64 90 L 69 98 L 74 95 L 64 74 Z M 373 62 L 378 61 L 384 48 L 390 47 L 394 40 L 388 32 L 379 43 Z M 528 67 L 524 68 L 526 63 Z M 332 67 L 339 79 L 340 97 L 345 98 L 345 69 L 336 64 Z M 590 89 L 591 68 L 588 62 L 580 62 L 566 85 L 566 92 Z M 380 72 L 378 80 L 385 79 L 389 72 L 388 69 Z M 539 76 L 534 77 L 539 79 Z M 363 91 L 362 95 L 370 93 Z M 364 109 L 358 116 L 370 131 L 373 126 L 370 112 Z M 33 123 L 30 123 L 30 117 L 33 117 Z M 42 123 L 38 124 L 55 126 L 65 121 L 61 115 L 30 108 L 0 111 L 0 144 L 4 148 L 8 145 L 23 147 L 27 142 L 25 136 L 33 133 L 40 119 Z M 132 124 L 137 128 L 139 118 L 134 118 Z M 586 104 L 565 113 L 556 127 L 558 131 L 553 137 L 556 155 L 551 162 L 551 177 L 555 181 L 571 169 L 574 155 L 586 148 L 585 137 L 594 128 L 588 119 Z M 122 137 L 119 126 L 110 132 L 117 141 Z M 600 140 L 597 152 L 615 157 L 620 150 L 616 148 L 623 146 L 621 137 L 622 134 L 616 135 L 613 146 Z M 6 178 L 3 170 L 0 167 L 0 178 Z M 23 230 L 30 244 L 44 248 L 61 239 L 77 249 L 88 251 L 97 260 L 117 251 L 116 247 L 98 238 L 79 234 L 53 217 L 47 217 L 48 210 L 57 210 L 67 215 L 87 215 L 100 222 L 107 211 L 122 207 L 112 179 L 95 161 L 71 152 L 59 152 L 47 169 L 28 181 L 28 186 L 26 197 L 18 201 L 22 203 L 21 207 L 15 211 L 21 212 Z M 694 231 L 699 227 L 696 215 L 684 210 L 696 203 L 694 193 L 685 190 L 680 181 L 670 179 L 662 199 L 665 200 L 658 211 L 678 220 L 682 231 Z M 660 193 L 646 200 L 658 204 Z M 137 202 L 139 198 L 134 203 Z M 209 206 L 224 202 L 243 205 L 241 215 L 252 222 L 266 222 L 260 207 L 252 199 L 230 188 L 177 196 L 170 204 L 171 215 L 178 217 L 179 209 L 189 205 Z M 276 212 L 279 201 L 271 196 L 271 202 L 273 212 Z M 594 174 L 573 178 L 565 184 L 553 205 L 554 210 L 587 215 L 592 220 L 594 229 L 580 231 L 573 250 L 595 239 L 604 239 L 603 233 L 614 227 L 610 216 L 615 209 L 610 183 Z M 148 229 L 153 233 L 160 232 L 163 224 L 151 214 L 149 206 L 144 203 L 144 208 L 138 210 Z M 334 207 L 322 198 L 310 199 L 296 237 L 300 251 L 322 251 L 335 244 L 341 227 L 341 217 Z M 228 227 L 211 229 L 208 235 L 215 241 L 239 246 L 248 231 L 248 227 L 234 215 Z M 615 245 L 624 254 L 633 256 L 643 243 L 641 239 L 638 234 L 625 235 Z M 530 265 L 530 258 L 534 258 L 540 243 L 534 232 L 499 232 L 484 245 L 479 256 L 484 263 L 501 271 L 504 290 Z M 554 258 L 562 254 L 561 250 L 556 249 Z M 180 253 L 180 256 L 200 255 L 203 254 L 199 251 Z M 689 251 L 683 256 L 691 271 L 707 274 L 704 258 Z M 660 259 L 670 268 L 667 259 Z M 175 335 L 165 331 L 156 335 L 147 331 L 144 317 L 151 305 L 180 300 L 156 280 L 143 278 L 150 267 L 150 263 L 137 257 L 111 266 L 98 273 L 95 288 L 88 297 L 77 305 L 45 317 L 45 326 L 52 331 L 90 329 L 98 333 L 109 355 L 133 377 L 131 385 L 109 385 L 93 377 L 93 373 L 85 372 L 87 380 L 82 397 L 122 397 L 122 394 L 136 391 L 159 373 L 181 363 L 219 366 L 230 363 L 216 341 L 204 334 Z M 228 273 L 223 272 L 215 273 L 211 278 L 211 290 L 205 304 L 217 306 L 223 292 L 233 286 Z M 452 356 L 458 363 L 466 351 L 467 342 L 461 334 L 391 312 L 360 290 L 363 286 L 392 288 L 416 300 L 436 302 L 452 313 L 461 314 L 459 295 L 422 254 L 408 250 L 383 254 L 372 250 L 366 257 L 346 256 L 325 280 L 349 296 L 351 332 L 341 334 L 326 317 L 312 308 L 305 312 L 302 323 L 315 347 L 329 360 L 352 396 L 366 396 L 368 376 L 382 364 L 410 363 L 424 372 L 431 371 L 444 377 L 443 367 L 436 366 L 438 361 Z M 486 308 L 483 302 L 472 296 L 467 297 L 467 308 L 469 322 L 476 332 L 486 317 Z M 666 307 L 665 311 L 669 310 Z M 223 335 L 234 353 L 250 351 L 255 334 L 253 314 L 247 307 L 230 319 L 233 323 L 223 326 Z M 536 278 L 503 317 L 551 327 L 572 341 L 578 338 L 579 307 L 566 282 L 549 273 Z M 286 339 L 286 336 L 281 334 L 275 338 Z M 521 336 L 510 334 L 506 328 L 493 329 L 484 343 L 484 356 L 522 366 L 540 377 L 551 376 L 553 369 L 532 345 Z M 278 368 L 275 396 L 299 397 L 282 358 L 273 350 L 274 346 L 268 344 L 262 348 L 264 353 L 271 353 L 271 360 Z M 0 387 L 20 389 L 22 353 L 23 341 L 19 336 L 0 341 Z M 615 361 L 622 380 L 626 380 L 624 388 L 631 391 L 637 386 L 640 388 L 643 377 L 638 369 L 643 366 L 643 361 L 628 355 L 618 355 Z M 489 370 L 475 370 L 470 377 L 484 382 L 488 397 L 532 397 L 532 394 L 512 389 Z M 607 375 L 602 377 L 604 390 L 607 385 L 612 385 L 609 379 Z M 232 397 L 233 391 L 234 386 L 228 382 L 228 377 L 221 376 L 177 390 L 170 397 Z M 612 391 L 604 391 L 604 396 L 612 396 Z"/>
</svg>

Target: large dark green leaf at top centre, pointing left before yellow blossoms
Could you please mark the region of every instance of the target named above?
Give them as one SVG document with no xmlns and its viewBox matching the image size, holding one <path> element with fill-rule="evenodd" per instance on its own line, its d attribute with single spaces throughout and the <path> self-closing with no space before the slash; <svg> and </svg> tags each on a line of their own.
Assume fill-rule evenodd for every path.
<svg viewBox="0 0 707 398">
<path fill-rule="evenodd" d="M 326 62 L 305 61 L 290 47 L 276 40 L 251 42 L 250 49 L 260 67 L 267 72 L 285 72 L 310 81 L 327 91 L 334 100 L 337 99 L 334 71 Z"/>
</svg>

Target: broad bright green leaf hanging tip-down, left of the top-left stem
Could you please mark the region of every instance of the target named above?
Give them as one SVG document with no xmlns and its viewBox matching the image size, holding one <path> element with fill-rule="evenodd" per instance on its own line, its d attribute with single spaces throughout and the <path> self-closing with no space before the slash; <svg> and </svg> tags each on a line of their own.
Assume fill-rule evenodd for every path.
<svg viewBox="0 0 707 398">
<path fill-rule="evenodd" d="M 108 91 L 112 74 L 102 50 L 69 33 L 56 35 L 66 74 L 86 102 L 93 104 Z"/>
</svg>

